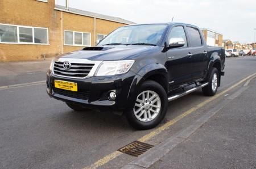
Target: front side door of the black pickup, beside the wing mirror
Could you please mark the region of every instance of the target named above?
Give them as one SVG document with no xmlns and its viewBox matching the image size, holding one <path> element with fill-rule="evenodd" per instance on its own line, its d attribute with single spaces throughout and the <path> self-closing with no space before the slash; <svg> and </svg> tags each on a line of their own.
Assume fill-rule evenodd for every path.
<svg viewBox="0 0 256 169">
<path fill-rule="evenodd" d="M 179 48 L 169 49 L 167 54 L 166 67 L 169 73 L 170 89 L 177 88 L 190 79 L 188 69 L 188 43 L 185 29 L 182 25 L 174 26 L 168 32 L 166 42 L 169 44 L 171 38 L 181 37 L 185 41 L 185 45 Z"/>
</svg>

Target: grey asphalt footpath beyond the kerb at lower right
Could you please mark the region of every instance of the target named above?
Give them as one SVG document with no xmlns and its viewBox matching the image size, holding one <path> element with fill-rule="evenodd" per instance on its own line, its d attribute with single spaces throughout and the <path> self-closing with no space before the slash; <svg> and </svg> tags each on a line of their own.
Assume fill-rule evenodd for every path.
<svg viewBox="0 0 256 169">
<path fill-rule="evenodd" d="M 255 168 L 256 79 L 150 168 Z"/>
</svg>

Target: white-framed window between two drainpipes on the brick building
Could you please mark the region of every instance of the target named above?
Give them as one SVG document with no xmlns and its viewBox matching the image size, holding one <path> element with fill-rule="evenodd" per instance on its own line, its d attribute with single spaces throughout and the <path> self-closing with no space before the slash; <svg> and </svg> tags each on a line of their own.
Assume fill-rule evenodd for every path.
<svg viewBox="0 0 256 169">
<path fill-rule="evenodd" d="M 90 33 L 64 31 L 64 45 L 90 46 Z"/>
</svg>

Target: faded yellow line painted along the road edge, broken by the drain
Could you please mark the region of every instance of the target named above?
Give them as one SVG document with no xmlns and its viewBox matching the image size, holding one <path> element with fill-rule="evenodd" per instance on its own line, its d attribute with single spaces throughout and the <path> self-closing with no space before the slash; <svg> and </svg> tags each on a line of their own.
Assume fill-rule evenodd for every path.
<svg viewBox="0 0 256 169">
<path fill-rule="evenodd" d="M 152 132 L 146 134 L 145 136 L 141 137 L 138 139 L 138 141 L 148 141 L 150 140 L 150 138 L 155 137 L 156 135 L 158 135 L 160 132 L 162 132 L 163 130 L 168 129 L 171 125 L 175 124 L 175 122 L 183 119 L 183 117 L 191 114 L 193 111 L 196 111 L 197 109 L 203 107 L 205 104 L 212 102 L 212 100 L 217 99 L 218 97 L 220 97 L 221 95 L 224 95 L 226 92 L 232 90 L 234 87 L 237 87 L 239 84 L 245 82 L 247 79 L 253 77 L 254 75 L 256 75 L 256 73 L 249 75 L 248 77 L 242 79 L 240 82 L 234 84 L 233 86 L 227 88 L 226 90 L 220 92 L 219 94 L 213 96 L 210 99 L 205 100 L 204 102 L 201 102 L 200 104 L 197 104 L 195 107 L 192 107 L 191 109 L 189 109 L 188 111 L 185 111 L 184 113 L 182 113 L 181 115 L 175 117 L 175 119 L 172 119 L 170 121 L 168 121 L 166 124 L 159 126 L 158 128 L 156 128 L 155 130 L 153 130 Z M 104 164 L 108 163 L 110 160 L 113 160 L 114 158 L 117 158 L 119 155 L 121 155 L 123 153 L 119 152 L 119 151 L 114 151 L 113 153 L 106 155 L 104 158 L 101 158 L 99 160 L 97 160 L 97 162 L 93 163 L 92 165 L 85 167 L 85 168 L 98 168 L 100 166 L 103 166 Z M 84 169 L 85 169 L 84 168 Z"/>
</svg>

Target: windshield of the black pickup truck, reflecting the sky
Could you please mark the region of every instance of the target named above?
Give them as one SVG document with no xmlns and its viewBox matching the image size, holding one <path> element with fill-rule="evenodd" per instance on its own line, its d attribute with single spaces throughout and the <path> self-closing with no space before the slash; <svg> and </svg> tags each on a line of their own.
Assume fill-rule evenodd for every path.
<svg viewBox="0 0 256 169">
<path fill-rule="evenodd" d="M 156 45 L 167 24 L 126 26 L 116 29 L 98 45 Z"/>
</svg>

